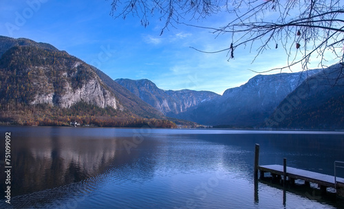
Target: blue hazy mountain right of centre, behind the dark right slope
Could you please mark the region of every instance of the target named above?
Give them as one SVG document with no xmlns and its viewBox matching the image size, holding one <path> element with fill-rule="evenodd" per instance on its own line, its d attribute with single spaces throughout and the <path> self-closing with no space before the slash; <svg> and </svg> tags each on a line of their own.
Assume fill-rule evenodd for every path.
<svg viewBox="0 0 344 209">
<path fill-rule="evenodd" d="M 257 126 L 264 122 L 281 100 L 294 91 L 303 80 L 317 72 L 319 70 L 257 75 L 240 87 L 227 89 L 221 97 L 180 113 L 178 118 L 208 125 Z"/>
</svg>

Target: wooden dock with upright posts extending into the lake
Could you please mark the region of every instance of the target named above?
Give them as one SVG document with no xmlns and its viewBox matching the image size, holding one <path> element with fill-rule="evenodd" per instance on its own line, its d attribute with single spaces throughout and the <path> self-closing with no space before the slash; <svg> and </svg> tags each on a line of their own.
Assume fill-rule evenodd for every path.
<svg viewBox="0 0 344 209">
<path fill-rule="evenodd" d="M 258 147 L 257 147 L 258 146 Z M 258 152 L 258 153 L 257 153 Z M 327 188 L 335 188 L 339 197 L 344 197 L 344 178 L 334 177 L 332 175 L 325 175 L 322 173 L 316 173 L 309 170 L 303 170 L 299 168 L 292 168 L 286 166 L 286 158 L 283 160 L 282 165 L 265 165 L 259 166 L 259 144 L 256 144 L 255 154 L 255 179 L 260 173 L 260 179 L 265 177 L 265 173 L 270 173 L 273 179 L 281 179 L 283 176 L 283 184 L 294 184 L 296 179 L 305 181 L 305 185 L 310 183 L 318 184 L 318 187 L 322 192 L 326 192 Z M 343 168 L 343 167 L 342 167 Z M 288 180 L 287 180 L 288 178 Z"/>
</svg>

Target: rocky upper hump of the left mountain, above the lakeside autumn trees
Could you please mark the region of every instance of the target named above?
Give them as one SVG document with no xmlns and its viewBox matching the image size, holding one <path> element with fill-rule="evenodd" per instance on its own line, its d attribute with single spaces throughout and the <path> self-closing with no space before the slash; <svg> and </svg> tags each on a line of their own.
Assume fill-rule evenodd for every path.
<svg viewBox="0 0 344 209">
<path fill-rule="evenodd" d="M 122 109 L 92 67 L 67 52 L 36 45 L 15 46 L 1 56 L 0 69 L 1 95 L 5 101 L 62 108 L 87 102 Z"/>
</svg>

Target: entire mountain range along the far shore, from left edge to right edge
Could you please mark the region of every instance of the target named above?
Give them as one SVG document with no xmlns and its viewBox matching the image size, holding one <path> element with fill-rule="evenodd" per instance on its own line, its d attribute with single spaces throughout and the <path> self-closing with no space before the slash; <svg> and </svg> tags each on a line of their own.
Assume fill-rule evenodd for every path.
<svg viewBox="0 0 344 209">
<path fill-rule="evenodd" d="M 257 75 L 222 96 L 166 91 L 147 79 L 113 80 L 48 43 L 0 36 L 0 122 L 175 127 L 172 120 L 192 126 L 344 129 L 343 69 L 339 63 Z"/>
</svg>

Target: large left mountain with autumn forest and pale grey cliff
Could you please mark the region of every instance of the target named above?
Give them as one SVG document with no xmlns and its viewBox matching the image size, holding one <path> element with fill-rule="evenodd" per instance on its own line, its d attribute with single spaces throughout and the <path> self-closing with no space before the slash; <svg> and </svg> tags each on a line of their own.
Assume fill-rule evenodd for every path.
<svg viewBox="0 0 344 209">
<path fill-rule="evenodd" d="M 175 126 L 95 67 L 52 45 L 0 36 L 0 46 L 2 122 Z"/>
</svg>

